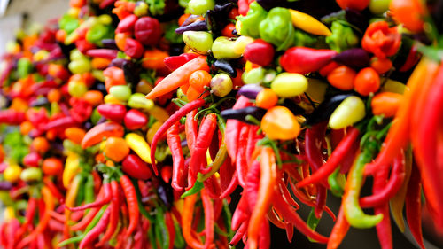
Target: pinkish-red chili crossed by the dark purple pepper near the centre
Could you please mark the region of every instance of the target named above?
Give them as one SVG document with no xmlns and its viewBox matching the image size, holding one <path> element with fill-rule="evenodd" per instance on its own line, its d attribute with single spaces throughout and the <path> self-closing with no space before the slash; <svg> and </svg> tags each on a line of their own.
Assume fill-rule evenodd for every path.
<svg viewBox="0 0 443 249">
<path fill-rule="evenodd" d="M 238 97 L 236 104 L 232 106 L 232 109 L 242 109 L 249 105 L 252 105 L 249 102 L 249 98 L 245 96 L 240 96 Z M 237 121 L 234 119 L 229 119 L 228 121 L 226 121 L 225 143 L 232 163 L 236 162 L 238 151 L 238 135 L 240 134 L 242 124 L 243 123 L 241 121 Z"/>
</svg>

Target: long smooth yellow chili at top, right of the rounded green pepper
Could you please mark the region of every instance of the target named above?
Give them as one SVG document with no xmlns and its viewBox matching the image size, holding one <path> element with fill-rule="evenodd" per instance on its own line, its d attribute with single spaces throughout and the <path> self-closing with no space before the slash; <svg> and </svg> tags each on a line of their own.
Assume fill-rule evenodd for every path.
<svg viewBox="0 0 443 249">
<path fill-rule="evenodd" d="M 289 12 L 291 13 L 292 24 L 295 27 L 314 35 L 332 35 L 328 27 L 312 16 L 295 10 L 289 10 Z"/>
</svg>

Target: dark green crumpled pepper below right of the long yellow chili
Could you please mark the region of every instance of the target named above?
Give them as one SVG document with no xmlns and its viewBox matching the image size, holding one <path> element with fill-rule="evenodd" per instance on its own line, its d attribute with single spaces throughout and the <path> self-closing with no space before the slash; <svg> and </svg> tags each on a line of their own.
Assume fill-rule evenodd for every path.
<svg viewBox="0 0 443 249">
<path fill-rule="evenodd" d="M 330 27 L 332 35 L 327 36 L 325 41 L 334 51 L 346 51 L 347 49 L 357 46 L 360 39 L 354 34 L 351 27 L 347 26 L 343 21 L 336 20 L 332 22 Z"/>
</svg>

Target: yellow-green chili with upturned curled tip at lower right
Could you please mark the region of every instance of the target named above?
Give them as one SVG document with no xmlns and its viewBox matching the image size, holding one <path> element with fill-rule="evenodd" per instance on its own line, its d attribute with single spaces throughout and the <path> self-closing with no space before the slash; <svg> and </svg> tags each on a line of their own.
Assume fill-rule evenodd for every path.
<svg viewBox="0 0 443 249">
<path fill-rule="evenodd" d="M 374 142 L 372 142 L 374 143 Z M 369 146 L 374 146 L 369 144 Z M 383 214 L 368 215 L 364 214 L 359 205 L 358 198 L 363 181 L 363 171 L 365 164 L 368 163 L 373 154 L 374 148 L 365 149 L 354 160 L 354 165 L 349 170 L 346 179 L 345 194 L 342 198 L 342 205 L 346 215 L 346 220 L 356 228 L 370 228 L 377 225 L 383 219 Z"/>
</svg>

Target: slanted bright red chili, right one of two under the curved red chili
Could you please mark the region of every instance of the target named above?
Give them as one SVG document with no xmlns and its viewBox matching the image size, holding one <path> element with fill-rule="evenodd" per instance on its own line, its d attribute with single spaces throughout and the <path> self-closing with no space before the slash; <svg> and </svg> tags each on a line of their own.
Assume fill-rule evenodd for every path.
<svg viewBox="0 0 443 249">
<path fill-rule="evenodd" d="M 206 116 L 206 119 L 201 122 L 197 140 L 194 144 L 194 152 L 190 156 L 190 171 L 188 177 L 190 177 L 191 182 L 188 188 L 194 185 L 198 172 L 206 167 L 206 151 L 211 144 L 215 128 L 217 128 L 217 116 L 214 113 L 210 113 Z"/>
</svg>

